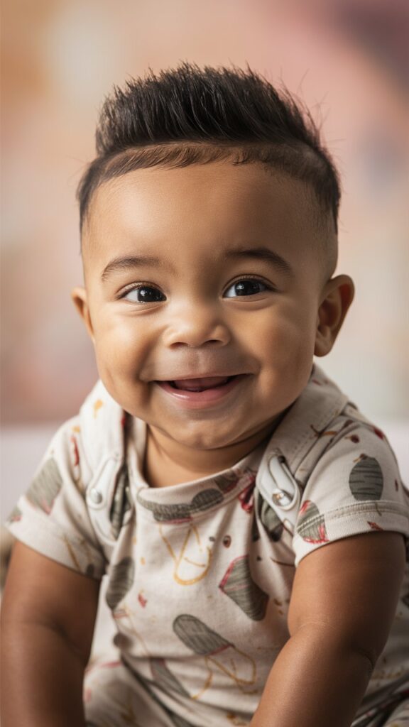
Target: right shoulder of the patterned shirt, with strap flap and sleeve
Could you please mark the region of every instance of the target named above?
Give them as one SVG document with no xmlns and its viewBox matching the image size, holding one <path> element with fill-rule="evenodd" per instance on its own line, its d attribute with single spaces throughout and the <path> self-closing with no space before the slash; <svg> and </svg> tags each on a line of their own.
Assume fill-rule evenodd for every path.
<svg viewBox="0 0 409 727">
<path fill-rule="evenodd" d="M 258 488 L 293 533 L 296 565 L 345 537 L 408 535 L 408 491 L 386 436 L 318 366 L 272 435 Z"/>
</svg>

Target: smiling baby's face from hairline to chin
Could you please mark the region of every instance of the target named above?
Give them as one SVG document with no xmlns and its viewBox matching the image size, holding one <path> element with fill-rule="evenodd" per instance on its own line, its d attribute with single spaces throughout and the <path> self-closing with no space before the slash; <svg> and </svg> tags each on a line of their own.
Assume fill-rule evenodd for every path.
<svg viewBox="0 0 409 727">
<path fill-rule="evenodd" d="M 305 186 L 257 164 L 138 169 L 100 187 L 74 300 L 112 397 L 179 446 L 268 432 L 311 373 L 323 234 Z"/>
</svg>

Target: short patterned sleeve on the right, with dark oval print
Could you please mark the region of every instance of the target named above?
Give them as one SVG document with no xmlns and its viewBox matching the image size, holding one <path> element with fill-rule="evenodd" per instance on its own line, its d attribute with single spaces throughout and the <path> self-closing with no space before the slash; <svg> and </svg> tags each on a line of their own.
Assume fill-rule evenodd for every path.
<svg viewBox="0 0 409 727">
<path fill-rule="evenodd" d="M 317 547 L 382 530 L 408 538 L 408 491 L 384 435 L 358 425 L 325 451 L 303 489 L 295 565 Z"/>
</svg>

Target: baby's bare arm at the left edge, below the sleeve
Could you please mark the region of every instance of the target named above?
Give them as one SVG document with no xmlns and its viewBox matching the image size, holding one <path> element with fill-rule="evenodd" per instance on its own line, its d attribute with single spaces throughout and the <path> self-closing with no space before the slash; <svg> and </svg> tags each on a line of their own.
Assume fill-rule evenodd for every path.
<svg viewBox="0 0 409 727">
<path fill-rule="evenodd" d="M 83 727 L 100 583 L 16 542 L 1 603 L 3 727 Z"/>
</svg>

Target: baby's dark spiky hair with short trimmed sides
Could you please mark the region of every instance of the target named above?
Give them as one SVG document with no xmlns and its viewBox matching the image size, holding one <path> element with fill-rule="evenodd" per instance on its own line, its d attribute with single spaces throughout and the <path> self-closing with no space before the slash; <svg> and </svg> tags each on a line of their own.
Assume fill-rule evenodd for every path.
<svg viewBox="0 0 409 727">
<path fill-rule="evenodd" d="M 113 177 L 149 166 L 188 166 L 232 158 L 260 162 L 314 190 L 321 212 L 337 230 L 340 183 L 309 111 L 286 89 L 280 92 L 250 70 L 149 69 L 145 79 L 114 86 L 100 111 L 97 156 L 77 190 L 80 228 L 92 194 Z"/>
</svg>

